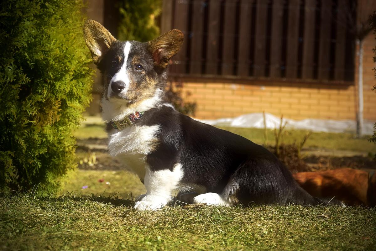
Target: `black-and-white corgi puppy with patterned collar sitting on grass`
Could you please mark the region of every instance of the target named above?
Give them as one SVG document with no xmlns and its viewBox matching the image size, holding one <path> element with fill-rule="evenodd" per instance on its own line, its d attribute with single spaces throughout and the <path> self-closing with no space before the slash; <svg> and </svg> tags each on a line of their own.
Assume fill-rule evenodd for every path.
<svg viewBox="0 0 376 251">
<path fill-rule="evenodd" d="M 207 205 L 343 206 L 309 195 L 264 147 L 185 116 L 165 101 L 168 62 L 183 43 L 180 30 L 149 42 L 121 42 L 87 20 L 83 34 L 104 76 L 101 107 L 109 153 L 147 190 L 135 209 L 161 209 L 176 190 L 196 191 L 193 202 Z"/>
</svg>

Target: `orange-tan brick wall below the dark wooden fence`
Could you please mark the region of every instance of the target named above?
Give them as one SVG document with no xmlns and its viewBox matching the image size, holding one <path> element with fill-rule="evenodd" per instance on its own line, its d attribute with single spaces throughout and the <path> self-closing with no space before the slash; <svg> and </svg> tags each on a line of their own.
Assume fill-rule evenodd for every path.
<svg viewBox="0 0 376 251">
<path fill-rule="evenodd" d="M 374 34 L 364 42 L 364 119 L 376 121 L 373 68 Z M 357 79 L 357 76 L 355 76 Z M 175 78 L 183 98 L 197 104 L 195 117 L 216 119 L 253 112 L 268 112 L 286 118 L 355 119 L 357 94 L 354 83 L 287 80 L 221 80 Z"/>
</svg>

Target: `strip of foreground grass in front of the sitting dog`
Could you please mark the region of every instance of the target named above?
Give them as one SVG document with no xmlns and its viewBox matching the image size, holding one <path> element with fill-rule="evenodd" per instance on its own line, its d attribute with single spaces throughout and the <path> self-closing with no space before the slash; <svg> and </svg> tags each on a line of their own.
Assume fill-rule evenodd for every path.
<svg viewBox="0 0 376 251">
<path fill-rule="evenodd" d="M 376 209 L 167 207 L 129 200 L 16 195 L 0 198 L 5 250 L 374 250 Z"/>
</svg>

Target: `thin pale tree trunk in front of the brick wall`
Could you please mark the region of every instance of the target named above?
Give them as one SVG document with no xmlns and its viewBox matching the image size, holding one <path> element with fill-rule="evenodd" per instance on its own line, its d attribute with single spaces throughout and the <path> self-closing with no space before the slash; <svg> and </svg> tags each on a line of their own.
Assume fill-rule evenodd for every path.
<svg viewBox="0 0 376 251">
<path fill-rule="evenodd" d="M 356 113 L 356 136 L 363 135 L 363 39 L 358 44 L 358 113 Z"/>
</svg>

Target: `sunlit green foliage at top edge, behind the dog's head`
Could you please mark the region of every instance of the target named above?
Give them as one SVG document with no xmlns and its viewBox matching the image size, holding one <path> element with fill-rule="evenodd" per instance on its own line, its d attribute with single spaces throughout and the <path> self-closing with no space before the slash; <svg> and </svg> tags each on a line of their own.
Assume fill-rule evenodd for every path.
<svg viewBox="0 0 376 251">
<path fill-rule="evenodd" d="M 159 35 L 155 18 L 161 13 L 161 0 L 121 0 L 118 3 L 119 40 L 150 41 Z"/>
</svg>

